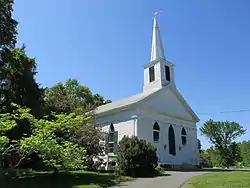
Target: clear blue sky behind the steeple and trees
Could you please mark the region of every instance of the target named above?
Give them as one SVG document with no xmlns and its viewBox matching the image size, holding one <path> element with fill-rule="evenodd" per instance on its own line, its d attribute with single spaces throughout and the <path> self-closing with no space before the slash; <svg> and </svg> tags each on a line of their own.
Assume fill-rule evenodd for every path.
<svg viewBox="0 0 250 188">
<path fill-rule="evenodd" d="M 162 10 L 165 56 L 198 125 L 212 118 L 248 129 L 250 112 L 217 112 L 250 109 L 249 0 L 16 0 L 14 10 L 42 86 L 76 78 L 111 100 L 142 91 L 153 12 Z"/>
</svg>

